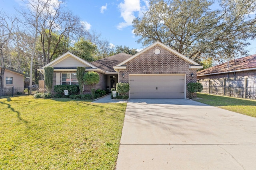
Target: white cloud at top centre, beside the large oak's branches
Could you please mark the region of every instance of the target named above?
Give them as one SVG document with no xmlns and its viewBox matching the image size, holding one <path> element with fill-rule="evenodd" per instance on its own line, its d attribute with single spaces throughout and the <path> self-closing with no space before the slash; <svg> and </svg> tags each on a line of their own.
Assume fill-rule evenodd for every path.
<svg viewBox="0 0 256 170">
<path fill-rule="evenodd" d="M 144 2 L 144 6 L 141 4 Z M 148 8 L 147 0 L 124 0 L 124 3 L 120 3 L 118 8 L 121 12 L 121 17 L 124 19 L 124 22 L 120 22 L 117 25 L 117 29 L 123 29 L 132 25 L 132 20 L 136 18 L 135 13 L 138 12 L 138 16 L 142 17 L 143 12 Z"/>
</svg>

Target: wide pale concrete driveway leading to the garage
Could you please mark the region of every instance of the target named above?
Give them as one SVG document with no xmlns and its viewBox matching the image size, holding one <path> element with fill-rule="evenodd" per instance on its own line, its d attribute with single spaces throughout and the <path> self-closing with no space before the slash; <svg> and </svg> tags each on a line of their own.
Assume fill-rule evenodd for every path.
<svg viewBox="0 0 256 170">
<path fill-rule="evenodd" d="M 256 169 L 256 118 L 186 99 L 129 100 L 116 170 Z"/>
</svg>

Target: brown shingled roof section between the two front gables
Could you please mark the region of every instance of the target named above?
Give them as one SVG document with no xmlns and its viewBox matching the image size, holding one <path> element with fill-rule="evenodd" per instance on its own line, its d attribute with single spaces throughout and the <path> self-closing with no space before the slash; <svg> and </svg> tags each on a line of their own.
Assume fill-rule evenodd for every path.
<svg viewBox="0 0 256 170">
<path fill-rule="evenodd" d="M 106 57 L 97 61 L 91 62 L 93 65 L 97 66 L 98 68 L 104 70 L 105 72 L 116 72 L 114 70 L 114 66 L 117 64 L 129 59 L 132 55 L 126 53 L 119 53 L 116 55 L 112 55 L 110 57 Z"/>
</svg>

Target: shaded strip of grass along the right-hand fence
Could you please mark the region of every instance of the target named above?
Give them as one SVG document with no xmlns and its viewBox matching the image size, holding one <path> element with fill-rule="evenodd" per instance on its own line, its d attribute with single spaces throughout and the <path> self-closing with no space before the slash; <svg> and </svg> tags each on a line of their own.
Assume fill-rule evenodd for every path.
<svg viewBox="0 0 256 170">
<path fill-rule="evenodd" d="M 197 102 L 211 106 L 256 106 L 256 101 L 227 96 L 215 96 L 211 94 L 197 94 Z"/>
</svg>

